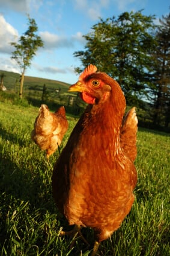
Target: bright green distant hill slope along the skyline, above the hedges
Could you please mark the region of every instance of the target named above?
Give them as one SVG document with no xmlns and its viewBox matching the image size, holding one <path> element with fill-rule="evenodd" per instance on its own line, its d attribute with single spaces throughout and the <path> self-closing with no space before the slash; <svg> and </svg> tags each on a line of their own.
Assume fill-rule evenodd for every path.
<svg viewBox="0 0 170 256">
<path fill-rule="evenodd" d="M 0 77 L 1 74 L 4 73 L 4 86 L 9 91 L 16 91 L 16 87 L 19 86 L 20 74 L 15 72 L 9 72 L 0 70 Z M 68 87 L 70 86 L 68 83 L 60 82 L 57 80 L 51 80 L 47 78 L 40 78 L 40 77 L 29 77 L 25 75 L 24 80 L 24 88 L 34 88 L 40 87 L 42 88 L 43 85 L 46 85 L 48 88 L 62 88 L 64 91 L 67 91 Z"/>
</svg>

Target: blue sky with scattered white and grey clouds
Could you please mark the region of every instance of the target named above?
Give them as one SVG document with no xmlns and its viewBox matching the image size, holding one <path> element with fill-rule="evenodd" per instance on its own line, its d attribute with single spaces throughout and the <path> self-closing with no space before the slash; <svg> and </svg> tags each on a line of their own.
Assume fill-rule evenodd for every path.
<svg viewBox="0 0 170 256">
<path fill-rule="evenodd" d="M 0 0 L 0 70 L 20 73 L 11 53 L 10 42 L 17 42 L 28 29 L 28 17 L 35 19 L 38 36 L 44 42 L 25 75 L 59 80 L 69 84 L 77 81 L 74 68 L 81 66 L 75 51 L 85 49 L 82 37 L 100 18 L 118 18 L 124 11 L 142 10 L 155 15 L 159 23 L 169 13 L 168 0 Z"/>
</svg>

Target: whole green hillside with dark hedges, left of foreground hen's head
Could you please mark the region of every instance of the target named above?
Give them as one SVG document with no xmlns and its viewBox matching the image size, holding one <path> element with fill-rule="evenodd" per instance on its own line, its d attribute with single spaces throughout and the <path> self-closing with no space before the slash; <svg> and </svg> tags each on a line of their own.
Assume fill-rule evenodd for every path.
<svg viewBox="0 0 170 256">
<path fill-rule="evenodd" d="M 20 74 L 0 70 L 1 74 L 4 73 L 4 86 L 7 91 L 2 92 L 2 98 L 7 98 L 12 94 L 13 97 L 19 95 L 20 89 Z M 79 114 L 83 109 L 85 103 L 77 98 L 76 92 L 68 92 L 68 83 L 57 80 L 29 77 L 25 76 L 23 85 L 23 96 L 33 106 L 40 106 L 40 104 L 47 104 L 50 109 L 56 109 L 57 106 L 67 107 L 67 111 Z"/>
</svg>

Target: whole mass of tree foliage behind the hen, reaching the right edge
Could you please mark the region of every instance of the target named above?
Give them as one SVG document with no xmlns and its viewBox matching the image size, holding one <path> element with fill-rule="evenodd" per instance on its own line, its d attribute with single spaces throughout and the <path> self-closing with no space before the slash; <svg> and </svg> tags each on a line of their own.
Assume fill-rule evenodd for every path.
<svg viewBox="0 0 170 256">
<path fill-rule="evenodd" d="M 170 124 L 170 14 L 154 25 L 155 16 L 142 11 L 120 14 L 92 27 L 84 37 L 84 51 L 76 51 L 83 68 L 93 63 L 115 78 L 123 88 L 128 105 L 150 105 L 154 126 Z M 83 68 L 76 68 L 81 72 Z M 144 109 L 144 106 L 142 107 Z M 149 110 L 149 109 L 144 109 Z"/>
</svg>

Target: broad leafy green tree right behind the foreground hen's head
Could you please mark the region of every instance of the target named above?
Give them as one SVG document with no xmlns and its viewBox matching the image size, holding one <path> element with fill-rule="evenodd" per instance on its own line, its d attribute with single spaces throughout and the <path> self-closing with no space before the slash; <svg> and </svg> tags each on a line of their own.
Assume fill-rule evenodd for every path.
<svg viewBox="0 0 170 256">
<path fill-rule="evenodd" d="M 83 66 L 95 64 L 100 70 L 114 77 L 126 94 L 127 103 L 148 96 L 156 47 L 153 33 L 154 16 L 144 16 L 141 11 L 123 13 L 118 19 L 108 18 L 92 27 L 85 35 L 84 51 L 76 51 Z M 77 72 L 82 71 L 76 68 Z M 139 102 L 139 101 L 138 101 Z"/>
</svg>

